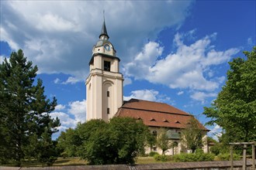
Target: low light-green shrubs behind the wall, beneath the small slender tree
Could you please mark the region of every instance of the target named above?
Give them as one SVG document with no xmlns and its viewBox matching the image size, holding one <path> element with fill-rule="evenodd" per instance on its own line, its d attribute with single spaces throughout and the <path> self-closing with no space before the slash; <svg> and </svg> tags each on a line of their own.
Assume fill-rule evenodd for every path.
<svg viewBox="0 0 256 170">
<path fill-rule="evenodd" d="M 175 162 L 210 162 L 213 161 L 214 155 L 211 153 L 203 153 L 202 150 L 196 150 L 191 154 L 174 155 L 173 160 Z"/>
</svg>

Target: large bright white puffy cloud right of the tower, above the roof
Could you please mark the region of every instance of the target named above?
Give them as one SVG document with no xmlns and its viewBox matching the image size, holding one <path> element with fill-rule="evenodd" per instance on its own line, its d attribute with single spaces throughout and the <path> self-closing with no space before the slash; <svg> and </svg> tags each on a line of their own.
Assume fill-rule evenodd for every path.
<svg viewBox="0 0 256 170">
<path fill-rule="evenodd" d="M 188 33 L 187 33 L 188 34 Z M 188 35 L 186 35 L 188 36 Z M 175 53 L 159 59 L 163 47 L 157 42 L 148 42 L 133 62 L 126 63 L 125 73 L 135 79 L 145 79 L 150 83 L 161 83 L 171 88 L 189 90 L 216 90 L 224 77 L 214 77 L 211 66 L 227 63 L 231 56 L 238 53 L 239 49 L 227 49 L 216 51 L 211 43 L 216 39 L 216 33 L 198 39 L 189 45 L 185 45 L 183 34 L 175 35 L 174 44 L 177 46 Z M 149 52 L 146 53 L 146 50 Z M 139 71 L 140 70 L 140 71 Z M 208 75 L 208 76 L 206 76 Z M 192 97 L 195 100 L 202 100 L 195 93 Z M 213 97 L 214 93 L 204 93 L 205 97 Z"/>
</svg>

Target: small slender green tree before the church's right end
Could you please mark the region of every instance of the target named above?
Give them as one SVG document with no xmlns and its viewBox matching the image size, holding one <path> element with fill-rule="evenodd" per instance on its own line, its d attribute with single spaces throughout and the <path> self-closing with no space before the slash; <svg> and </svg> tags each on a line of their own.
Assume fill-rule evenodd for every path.
<svg viewBox="0 0 256 170">
<path fill-rule="evenodd" d="M 182 131 L 182 143 L 187 148 L 195 152 L 195 149 L 202 148 L 202 129 L 199 127 L 199 121 L 192 117 L 185 129 Z"/>
</svg>

